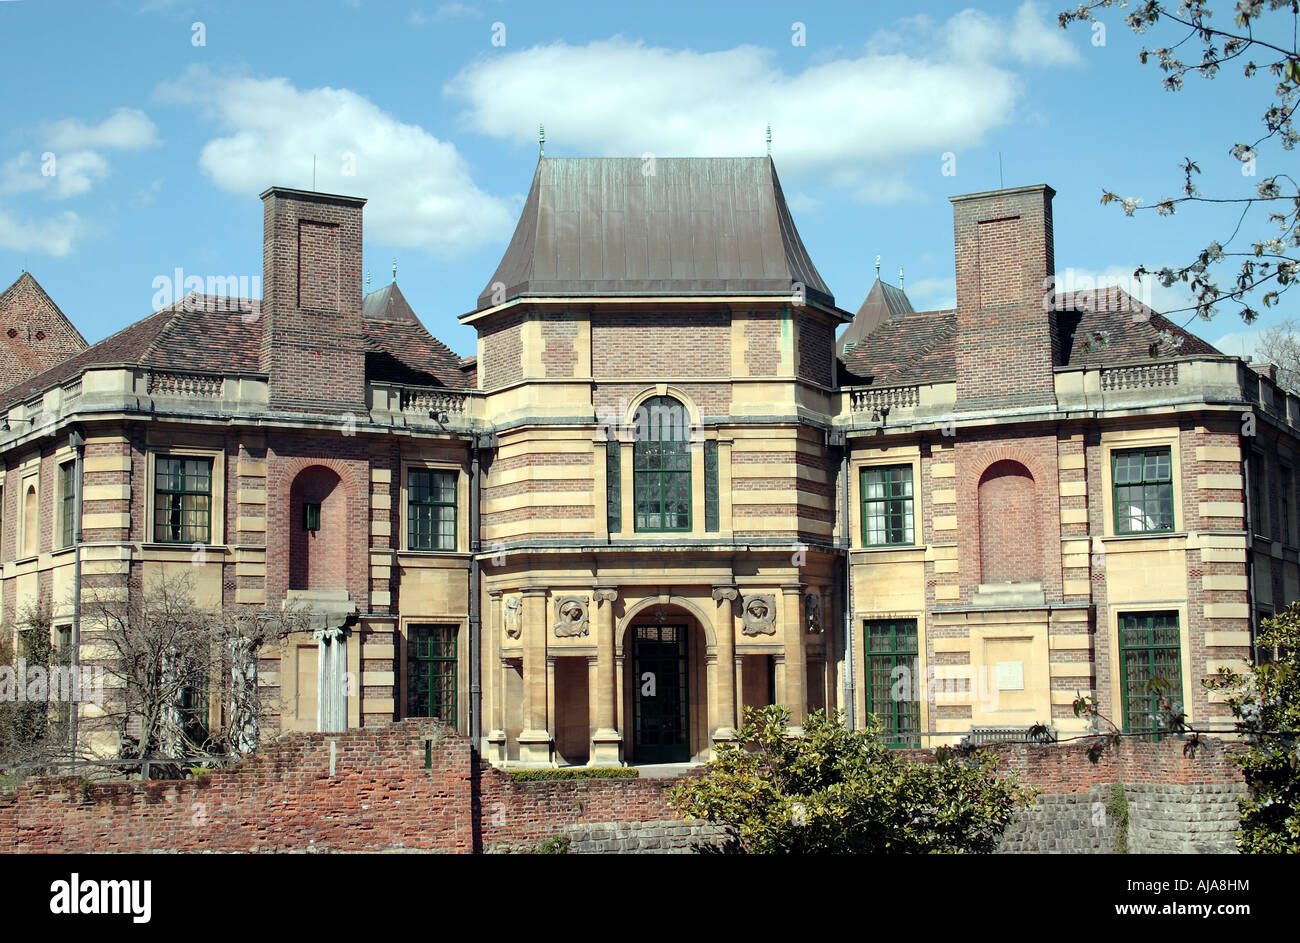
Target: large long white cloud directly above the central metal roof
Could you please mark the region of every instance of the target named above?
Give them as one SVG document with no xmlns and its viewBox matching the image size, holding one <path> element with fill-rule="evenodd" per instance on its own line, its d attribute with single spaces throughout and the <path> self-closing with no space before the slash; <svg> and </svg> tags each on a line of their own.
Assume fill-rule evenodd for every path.
<svg viewBox="0 0 1300 943">
<path fill-rule="evenodd" d="M 1030 4 L 1010 20 L 963 12 L 937 31 L 793 74 L 754 46 L 556 42 L 485 55 L 443 94 L 464 103 L 473 130 L 530 146 L 541 121 L 556 150 L 584 155 L 759 155 L 771 122 L 783 169 L 819 173 L 859 199 L 900 199 L 907 161 L 931 157 L 937 173 L 941 153 L 1011 120 L 1024 88 L 1011 64 L 1078 61 L 1048 29 Z"/>
</svg>

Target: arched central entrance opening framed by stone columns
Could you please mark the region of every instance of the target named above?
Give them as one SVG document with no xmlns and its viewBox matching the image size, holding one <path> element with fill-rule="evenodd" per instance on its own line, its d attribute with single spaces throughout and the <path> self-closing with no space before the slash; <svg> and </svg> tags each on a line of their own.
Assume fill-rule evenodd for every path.
<svg viewBox="0 0 1300 943">
<path fill-rule="evenodd" d="M 689 762 L 708 749 L 705 633 L 666 605 L 638 613 L 623 635 L 623 731 L 640 765 Z"/>
</svg>

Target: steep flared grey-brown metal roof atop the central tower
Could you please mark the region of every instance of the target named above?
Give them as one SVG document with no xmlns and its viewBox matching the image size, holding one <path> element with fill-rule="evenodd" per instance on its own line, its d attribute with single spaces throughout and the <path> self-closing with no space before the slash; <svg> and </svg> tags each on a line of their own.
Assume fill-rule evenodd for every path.
<svg viewBox="0 0 1300 943">
<path fill-rule="evenodd" d="M 524 297 L 788 297 L 796 282 L 833 307 L 771 157 L 542 157 L 476 310 Z"/>
</svg>

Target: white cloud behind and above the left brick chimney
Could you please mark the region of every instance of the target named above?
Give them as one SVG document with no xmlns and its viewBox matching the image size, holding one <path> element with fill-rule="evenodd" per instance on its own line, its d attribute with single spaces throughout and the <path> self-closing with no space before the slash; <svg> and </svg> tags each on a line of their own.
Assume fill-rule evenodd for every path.
<svg viewBox="0 0 1300 943">
<path fill-rule="evenodd" d="M 381 242 L 454 256 L 508 238 L 515 224 L 504 200 L 474 185 L 454 144 L 347 88 L 300 90 L 285 78 L 192 66 L 156 95 L 199 105 L 220 127 L 199 166 L 224 190 L 307 189 L 315 155 L 316 189 L 367 196 L 367 233 Z"/>
</svg>

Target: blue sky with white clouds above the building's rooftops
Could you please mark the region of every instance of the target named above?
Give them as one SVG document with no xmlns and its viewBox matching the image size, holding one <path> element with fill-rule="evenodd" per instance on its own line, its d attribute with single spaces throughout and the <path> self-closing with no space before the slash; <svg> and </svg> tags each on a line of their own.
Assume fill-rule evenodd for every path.
<svg viewBox="0 0 1300 943">
<path fill-rule="evenodd" d="M 514 230 L 538 122 L 551 156 L 760 155 L 771 122 L 850 311 L 878 254 L 918 308 L 952 304 L 948 198 L 997 187 L 1000 153 L 1006 186 L 1057 190 L 1061 277 L 1187 261 L 1235 217 L 1127 219 L 1102 187 L 1154 203 L 1192 156 L 1206 193 L 1253 190 L 1227 150 L 1257 137 L 1268 79 L 1166 92 L 1118 17 L 1096 43 L 1057 26 L 1063 3 L 0 0 L 0 282 L 26 268 L 94 342 L 177 268 L 260 276 L 257 194 L 311 187 L 315 155 L 317 189 L 369 199 L 373 285 L 396 256 L 421 320 L 472 354 L 455 319 Z M 1191 328 L 1231 352 L 1249 333 L 1227 311 Z"/>
</svg>

